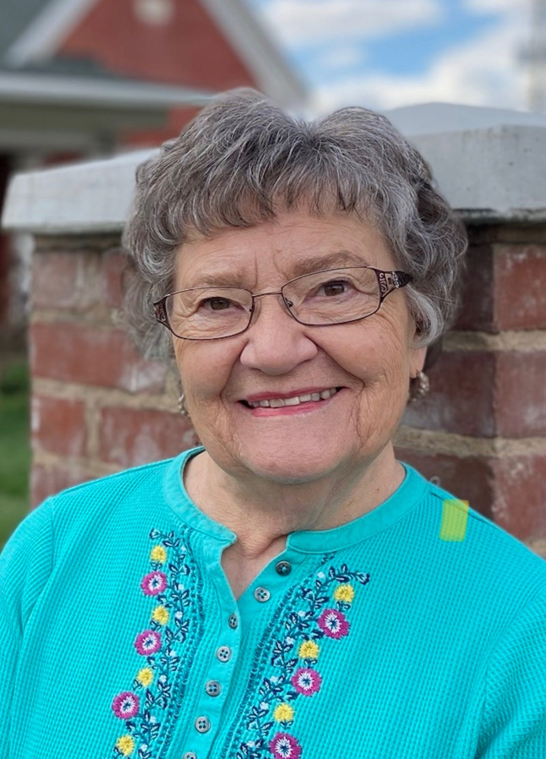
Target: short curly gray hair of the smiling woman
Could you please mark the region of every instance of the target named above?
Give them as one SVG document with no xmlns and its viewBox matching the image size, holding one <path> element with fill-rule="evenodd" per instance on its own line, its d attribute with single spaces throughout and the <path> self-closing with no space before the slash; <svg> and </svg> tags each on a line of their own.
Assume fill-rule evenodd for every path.
<svg viewBox="0 0 546 759">
<path fill-rule="evenodd" d="M 172 290 L 175 250 L 191 233 L 210 236 L 299 208 L 378 225 L 397 268 L 413 277 L 405 290 L 419 344 L 447 329 L 466 235 L 417 150 L 364 108 L 305 122 L 254 90 L 232 90 L 137 168 L 124 235 L 135 275 L 126 313 L 144 351 L 170 345 L 152 304 Z"/>
</svg>

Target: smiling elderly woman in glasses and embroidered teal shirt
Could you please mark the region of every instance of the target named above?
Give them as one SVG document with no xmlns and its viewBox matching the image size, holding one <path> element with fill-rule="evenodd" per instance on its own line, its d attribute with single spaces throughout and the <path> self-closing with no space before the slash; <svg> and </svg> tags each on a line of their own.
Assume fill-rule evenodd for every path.
<svg viewBox="0 0 546 759">
<path fill-rule="evenodd" d="M 546 566 L 393 452 L 465 250 L 418 153 L 231 93 L 126 240 L 203 445 L 12 538 L 2 757 L 544 759 Z"/>
</svg>

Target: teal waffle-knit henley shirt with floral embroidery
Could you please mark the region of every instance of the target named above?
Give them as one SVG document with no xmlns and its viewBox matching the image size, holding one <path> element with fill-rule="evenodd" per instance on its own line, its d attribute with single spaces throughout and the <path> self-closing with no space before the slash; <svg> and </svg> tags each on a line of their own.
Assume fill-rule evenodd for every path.
<svg viewBox="0 0 546 759">
<path fill-rule="evenodd" d="M 235 600 L 186 452 L 74 487 L 0 559 L 2 759 L 544 759 L 546 564 L 412 468 Z"/>
</svg>

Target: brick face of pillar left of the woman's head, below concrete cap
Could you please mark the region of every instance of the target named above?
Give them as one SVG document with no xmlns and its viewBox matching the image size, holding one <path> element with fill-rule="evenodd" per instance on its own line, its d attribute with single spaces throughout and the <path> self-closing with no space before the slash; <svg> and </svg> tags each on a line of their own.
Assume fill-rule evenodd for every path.
<svg viewBox="0 0 546 759">
<path fill-rule="evenodd" d="M 30 361 L 33 505 L 62 488 L 176 455 L 196 436 L 175 373 L 120 326 L 119 237 L 37 238 Z"/>
</svg>

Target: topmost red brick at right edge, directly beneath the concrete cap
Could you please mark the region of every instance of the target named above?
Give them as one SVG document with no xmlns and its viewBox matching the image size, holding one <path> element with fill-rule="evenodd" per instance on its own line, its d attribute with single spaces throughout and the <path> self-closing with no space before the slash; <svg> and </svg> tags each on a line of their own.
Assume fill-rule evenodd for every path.
<svg viewBox="0 0 546 759">
<path fill-rule="evenodd" d="M 546 328 L 546 245 L 498 245 L 494 268 L 497 329 Z"/>
</svg>

